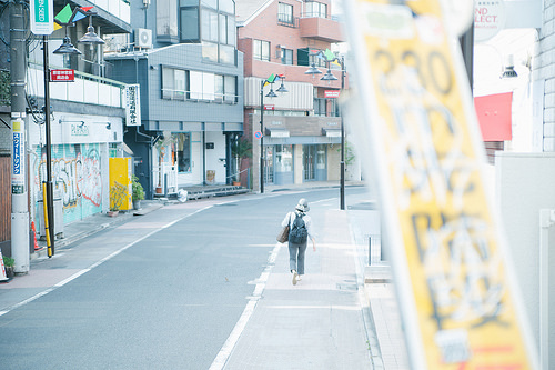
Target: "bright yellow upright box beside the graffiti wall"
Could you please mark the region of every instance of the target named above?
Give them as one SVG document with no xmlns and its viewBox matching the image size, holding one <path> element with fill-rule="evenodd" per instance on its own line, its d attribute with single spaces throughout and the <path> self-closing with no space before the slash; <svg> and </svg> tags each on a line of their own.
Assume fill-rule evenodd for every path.
<svg viewBox="0 0 555 370">
<path fill-rule="evenodd" d="M 110 158 L 110 210 L 127 211 L 133 207 L 131 199 L 132 158 Z"/>
</svg>

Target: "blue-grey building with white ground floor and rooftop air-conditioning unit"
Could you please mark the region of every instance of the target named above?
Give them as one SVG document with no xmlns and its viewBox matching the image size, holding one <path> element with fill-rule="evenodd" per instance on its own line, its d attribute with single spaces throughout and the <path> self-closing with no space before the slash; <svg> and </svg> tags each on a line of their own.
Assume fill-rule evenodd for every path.
<svg viewBox="0 0 555 370">
<path fill-rule="evenodd" d="M 140 87 L 141 121 L 128 126 L 125 144 L 147 197 L 235 177 L 243 56 L 234 12 L 232 0 L 132 1 L 133 33 L 113 36 L 112 78 Z"/>
</svg>

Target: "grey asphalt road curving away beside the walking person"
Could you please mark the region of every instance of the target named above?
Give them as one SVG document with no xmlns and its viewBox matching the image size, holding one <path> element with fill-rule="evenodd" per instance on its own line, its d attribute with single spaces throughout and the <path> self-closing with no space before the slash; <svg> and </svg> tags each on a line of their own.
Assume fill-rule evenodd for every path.
<svg viewBox="0 0 555 370">
<path fill-rule="evenodd" d="M 346 194 L 351 204 L 365 189 Z M 72 259 L 58 268 L 78 268 L 82 259 L 105 257 L 108 246 L 128 243 L 1 316 L 0 369 L 208 369 L 301 197 L 310 200 L 314 222 L 319 208 L 339 204 L 337 189 L 330 189 L 225 198 L 196 210 L 172 206 L 72 246 Z"/>
</svg>

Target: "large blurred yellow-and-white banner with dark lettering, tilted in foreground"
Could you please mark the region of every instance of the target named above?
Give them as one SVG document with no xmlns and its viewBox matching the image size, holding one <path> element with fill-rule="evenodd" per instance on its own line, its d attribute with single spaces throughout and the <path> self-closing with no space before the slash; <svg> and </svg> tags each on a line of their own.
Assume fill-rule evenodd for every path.
<svg viewBox="0 0 555 370">
<path fill-rule="evenodd" d="M 442 2 L 344 3 L 411 369 L 537 369 Z"/>
</svg>

